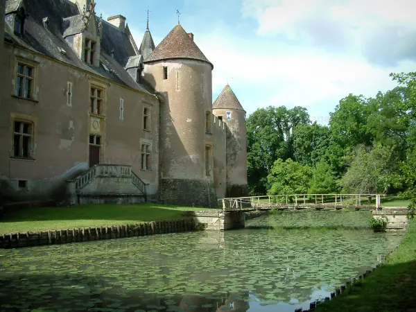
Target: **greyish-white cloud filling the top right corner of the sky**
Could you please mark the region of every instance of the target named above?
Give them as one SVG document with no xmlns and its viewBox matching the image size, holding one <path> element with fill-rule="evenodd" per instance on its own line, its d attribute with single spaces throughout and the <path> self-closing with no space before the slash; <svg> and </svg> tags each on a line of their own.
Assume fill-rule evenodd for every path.
<svg viewBox="0 0 416 312">
<path fill-rule="evenodd" d="M 414 0 L 243 0 L 242 7 L 243 16 L 257 19 L 258 35 L 361 54 L 383 65 L 416 60 L 415 11 Z"/>
</svg>

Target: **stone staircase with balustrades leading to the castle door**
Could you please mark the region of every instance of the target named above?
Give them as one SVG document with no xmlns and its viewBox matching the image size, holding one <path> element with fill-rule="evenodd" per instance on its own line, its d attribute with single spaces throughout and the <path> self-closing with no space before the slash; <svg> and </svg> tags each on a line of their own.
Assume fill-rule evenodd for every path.
<svg viewBox="0 0 416 312">
<path fill-rule="evenodd" d="M 69 205 L 146 202 L 146 183 L 128 165 L 96 164 L 67 181 Z"/>
</svg>

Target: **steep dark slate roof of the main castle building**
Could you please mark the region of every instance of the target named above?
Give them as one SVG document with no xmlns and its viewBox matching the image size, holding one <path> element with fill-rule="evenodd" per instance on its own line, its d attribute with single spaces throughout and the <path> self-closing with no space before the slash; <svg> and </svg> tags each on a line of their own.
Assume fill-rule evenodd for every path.
<svg viewBox="0 0 416 312">
<path fill-rule="evenodd" d="M 16 0 L 8 0 L 15 2 Z M 130 39 L 121 29 L 103 20 L 103 39 L 101 40 L 101 63 L 105 64 L 109 71 L 103 66 L 94 67 L 81 61 L 73 51 L 72 47 L 62 36 L 63 19 L 79 15 L 78 6 L 69 0 L 21 0 L 24 3 L 28 17 L 25 21 L 25 34 L 17 37 L 12 29 L 6 24 L 5 37 L 19 46 L 42 53 L 49 58 L 60 60 L 85 71 L 103 76 L 121 85 L 137 89 L 141 92 L 151 94 L 143 85 L 139 85 L 125 71 L 124 67 L 131 56 L 135 56 L 135 49 Z M 42 23 L 44 17 L 49 18 L 46 28 Z M 98 21 L 98 17 L 96 17 Z M 90 21 L 92 22 L 92 21 Z M 73 24 L 77 28 L 76 23 Z M 76 29 L 77 30 L 77 29 Z M 60 49 L 66 51 L 60 53 Z M 111 51 L 114 49 L 114 58 Z"/>
</svg>

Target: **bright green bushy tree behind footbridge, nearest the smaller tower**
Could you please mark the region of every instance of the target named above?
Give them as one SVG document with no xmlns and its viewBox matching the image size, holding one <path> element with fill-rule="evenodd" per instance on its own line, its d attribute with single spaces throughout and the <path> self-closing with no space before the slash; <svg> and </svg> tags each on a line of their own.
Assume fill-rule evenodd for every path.
<svg viewBox="0 0 416 312">
<path fill-rule="evenodd" d="M 309 188 L 312 177 L 312 168 L 302 166 L 292 159 L 277 159 L 268 175 L 270 189 L 268 195 L 304 194 Z"/>
</svg>

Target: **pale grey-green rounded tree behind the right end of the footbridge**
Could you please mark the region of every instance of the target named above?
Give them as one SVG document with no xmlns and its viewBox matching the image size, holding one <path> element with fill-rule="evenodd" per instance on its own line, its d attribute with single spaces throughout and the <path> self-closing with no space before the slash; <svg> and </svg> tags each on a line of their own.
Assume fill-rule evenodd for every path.
<svg viewBox="0 0 416 312">
<path fill-rule="evenodd" d="M 345 193 L 388 193 L 400 186 L 398 164 L 391 147 L 377 144 L 367 150 L 365 146 L 358 146 L 340 184 Z"/>
</svg>

